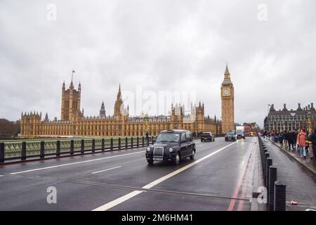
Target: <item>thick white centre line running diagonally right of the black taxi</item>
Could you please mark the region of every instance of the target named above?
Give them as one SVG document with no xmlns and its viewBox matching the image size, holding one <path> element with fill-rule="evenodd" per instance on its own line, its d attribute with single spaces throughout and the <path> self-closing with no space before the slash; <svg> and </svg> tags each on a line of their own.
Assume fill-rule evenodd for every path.
<svg viewBox="0 0 316 225">
<path fill-rule="evenodd" d="M 152 181 L 150 184 L 147 184 L 145 186 L 143 186 L 142 188 L 145 189 L 150 189 L 153 186 L 156 186 L 159 183 L 162 183 L 162 181 L 166 181 L 166 179 L 171 178 L 172 176 L 175 176 L 176 174 L 179 174 L 180 172 L 183 172 L 186 169 L 189 169 L 190 167 L 193 167 L 194 165 L 197 165 L 199 162 L 202 162 L 203 160 L 206 160 L 207 158 L 210 158 L 211 156 L 215 155 L 216 153 L 219 153 L 222 150 L 225 150 L 225 148 L 228 148 L 232 145 L 234 145 L 235 143 L 237 143 L 239 141 L 230 143 L 228 146 L 225 146 L 223 148 L 220 148 L 218 150 L 216 150 L 213 153 L 210 153 L 209 155 L 204 156 L 203 158 L 200 158 L 199 160 L 196 160 L 195 162 L 190 163 L 189 165 L 186 165 L 185 167 L 182 167 L 180 169 L 177 169 L 176 171 L 171 172 L 170 174 L 166 174 L 166 176 L 162 176 L 161 178 Z M 106 203 L 105 205 L 101 205 L 100 207 L 97 207 L 96 209 L 92 210 L 92 211 L 105 211 L 105 210 L 110 210 L 110 208 L 117 206 L 123 202 L 125 202 L 126 200 L 129 200 L 133 197 L 135 197 L 136 195 L 139 195 L 140 193 L 143 193 L 144 191 L 132 191 L 131 193 L 128 193 L 126 195 L 121 196 L 120 198 L 117 198 L 115 200 L 112 200 L 110 203 Z"/>
</svg>

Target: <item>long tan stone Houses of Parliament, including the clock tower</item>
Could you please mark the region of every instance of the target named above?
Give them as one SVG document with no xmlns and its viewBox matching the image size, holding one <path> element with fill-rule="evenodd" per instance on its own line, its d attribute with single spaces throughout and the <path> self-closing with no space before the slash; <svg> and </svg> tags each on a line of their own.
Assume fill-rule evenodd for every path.
<svg viewBox="0 0 316 225">
<path fill-rule="evenodd" d="M 22 137 L 41 136 L 156 136 L 165 129 L 187 129 L 192 133 L 212 132 L 222 134 L 229 129 L 235 129 L 234 124 L 234 87 L 230 81 L 230 72 L 226 65 L 225 77 L 221 85 L 222 120 L 216 116 L 205 116 L 204 103 L 191 105 L 190 115 L 185 115 L 184 105 L 171 105 L 170 115 L 154 117 L 129 115 L 129 107 L 125 108 L 121 97 L 121 86 L 114 103 L 114 115 L 106 115 L 102 103 L 100 115 L 86 117 L 81 110 L 81 84 L 75 89 L 73 82 L 66 89 L 62 84 L 62 102 L 60 120 L 55 117 L 49 120 L 46 113 L 42 120 L 41 113 L 21 114 Z M 195 119 L 192 114 L 195 113 Z"/>
</svg>

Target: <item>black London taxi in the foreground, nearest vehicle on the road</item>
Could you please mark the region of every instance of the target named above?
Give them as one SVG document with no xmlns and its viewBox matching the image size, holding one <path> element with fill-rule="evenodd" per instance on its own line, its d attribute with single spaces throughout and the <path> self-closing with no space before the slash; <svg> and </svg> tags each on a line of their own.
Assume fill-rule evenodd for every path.
<svg viewBox="0 0 316 225">
<path fill-rule="evenodd" d="M 187 130 L 172 129 L 161 131 L 156 142 L 148 146 L 146 159 L 149 164 L 154 161 L 172 161 L 176 165 L 181 159 L 195 158 L 195 143 L 192 134 Z"/>
</svg>

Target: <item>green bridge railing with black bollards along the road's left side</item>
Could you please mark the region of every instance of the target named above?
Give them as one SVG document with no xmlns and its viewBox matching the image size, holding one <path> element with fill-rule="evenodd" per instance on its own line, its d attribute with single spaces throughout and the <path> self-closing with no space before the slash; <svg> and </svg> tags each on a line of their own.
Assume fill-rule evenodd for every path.
<svg viewBox="0 0 316 225">
<path fill-rule="evenodd" d="M 72 155 L 102 153 L 149 146 L 154 136 L 114 137 L 98 139 L 60 139 L 45 141 L 21 141 L 0 143 L 0 165 L 10 162 L 25 162 L 45 158 L 60 158 Z"/>
</svg>

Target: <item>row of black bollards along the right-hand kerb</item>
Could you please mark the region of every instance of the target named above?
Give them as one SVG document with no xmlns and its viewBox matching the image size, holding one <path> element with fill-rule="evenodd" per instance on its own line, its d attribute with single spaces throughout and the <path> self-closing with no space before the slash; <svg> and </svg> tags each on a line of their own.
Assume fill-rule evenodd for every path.
<svg viewBox="0 0 316 225">
<path fill-rule="evenodd" d="M 261 154 L 261 162 L 263 167 L 263 179 L 265 188 L 267 189 L 267 210 L 269 211 L 285 211 L 287 186 L 282 181 L 277 181 L 277 167 L 272 164 L 272 158 L 265 141 L 258 136 L 259 149 Z"/>
</svg>

